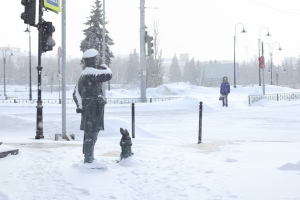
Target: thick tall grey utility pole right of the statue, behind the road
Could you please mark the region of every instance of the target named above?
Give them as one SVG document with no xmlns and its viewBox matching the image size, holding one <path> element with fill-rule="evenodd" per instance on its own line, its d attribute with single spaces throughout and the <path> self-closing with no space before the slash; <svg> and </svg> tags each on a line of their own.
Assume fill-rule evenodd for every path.
<svg viewBox="0 0 300 200">
<path fill-rule="evenodd" d="M 140 73 L 141 73 L 141 102 L 146 100 L 146 55 L 145 55 L 145 0 L 140 0 Z"/>
</svg>

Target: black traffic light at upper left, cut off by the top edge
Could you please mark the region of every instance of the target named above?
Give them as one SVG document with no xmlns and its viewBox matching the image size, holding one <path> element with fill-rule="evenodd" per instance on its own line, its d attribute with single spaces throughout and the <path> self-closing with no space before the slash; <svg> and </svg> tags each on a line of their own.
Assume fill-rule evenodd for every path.
<svg viewBox="0 0 300 200">
<path fill-rule="evenodd" d="M 25 6 L 24 12 L 21 14 L 21 19 L 24 20 L 24 24 L 30 26 L 35 25 L 35 2 L 36 0 L 22 0 L 21 4 Z"/>
</svg>

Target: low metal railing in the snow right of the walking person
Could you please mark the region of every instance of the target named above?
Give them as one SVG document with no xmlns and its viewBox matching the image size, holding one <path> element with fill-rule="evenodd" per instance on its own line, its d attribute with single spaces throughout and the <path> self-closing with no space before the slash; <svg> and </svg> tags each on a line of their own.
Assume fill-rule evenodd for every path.
<svg viewBox="0 0 300 200">
<path fill-rule="evenodd" d="M 258 102 L 261 99 L 269 99 L 273 101 L 295 101 L 295 100 L 300 100 L 300 92 L 266 94 L 266 95 L 249 95 L 249 105 Z"/>
</svg>

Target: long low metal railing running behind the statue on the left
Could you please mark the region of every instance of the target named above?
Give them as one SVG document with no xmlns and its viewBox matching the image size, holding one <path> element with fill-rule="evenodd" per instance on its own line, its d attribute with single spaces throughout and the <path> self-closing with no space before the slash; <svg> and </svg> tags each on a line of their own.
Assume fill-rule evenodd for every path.
<svg viewBox="0 0 300 200">
<path fill-rule="evenodd" d="M 161 98 L 107 98 L 106 101 L 108 104 L 131 104 L 131 103 L 152 103 L 152 102 L 160 102 L 160 101 L 169 101 L 169 100 L 175 100 L 180 99 L 182 97 L 161 97 Z M 32 99 L 32 101 L 28 99 L 1 99 L 0 103 L 32 103 L 36 102 L 36 99 Z M 59 99 L 42 99 L 43 103 L 46 104 L 59 104 Z M 67 104 L 75 104 L 74 100 L 72 98 L 66 99 Z"/>
</svg>

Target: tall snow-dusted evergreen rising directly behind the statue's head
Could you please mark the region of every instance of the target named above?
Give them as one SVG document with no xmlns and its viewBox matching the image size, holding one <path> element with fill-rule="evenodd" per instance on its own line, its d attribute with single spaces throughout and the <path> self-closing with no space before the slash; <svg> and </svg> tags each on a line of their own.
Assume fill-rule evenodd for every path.
<svg viewBox="0 0 300 200">
<path fill-rule="evenodd" d="M 85 52 L 87 49 L 96 49 L 99 51 L 102 63 L 102 48 L 103 48 L 103 10 L 101 10 L 102 4 L 100 0 L 95 0 L 95 5 L 92 6 L 91 15 L 87 18 L 87 22 L 84 23 L 88 28 L 83 30 L 85 39 L 81 41 L 80 51 Z M 105 22 L 107 24 L 107 22 Z M 109 32 L 105 30 L 105 64 L 108 66 L 111 64 L 111 58 L 114 57 L 110 46 L 114 45 L 113 40 L 107 35 Z"/>
</svg>

